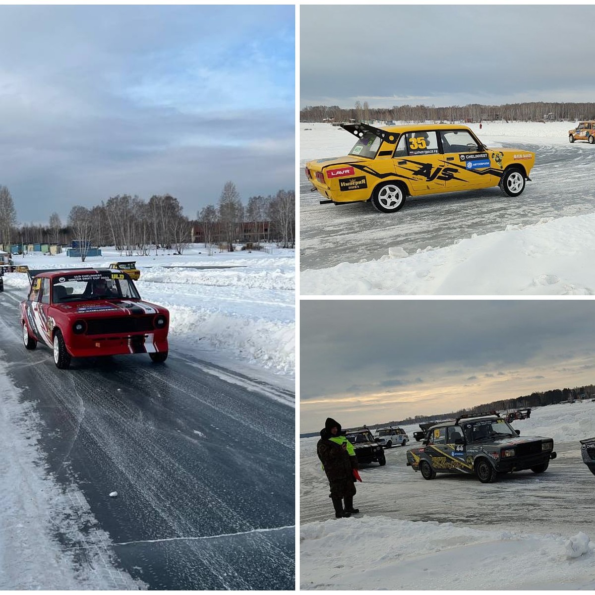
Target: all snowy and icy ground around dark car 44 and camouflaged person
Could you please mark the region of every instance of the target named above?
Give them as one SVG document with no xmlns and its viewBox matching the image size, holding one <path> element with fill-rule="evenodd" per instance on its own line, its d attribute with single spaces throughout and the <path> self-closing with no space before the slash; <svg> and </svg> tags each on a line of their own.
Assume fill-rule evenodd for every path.
<svg viewBox="0 0 595 595">
<path fill-rule="evenodd" d="M 425 481 L 405 465 L 413 441 L 386 450 L 384 467 L 364 465 L 362 513 L 348 519 L 332 518 L 317 439 L 301 439 L 300 587 L 441 589 L 448 577 L 452 589 L 595 588 L 595 477 L 578 442 L 595 436 L 595 403 L 537 408 L 512 425 L 553 437 L 558 458 L 544 474 Z"/>
</svg>

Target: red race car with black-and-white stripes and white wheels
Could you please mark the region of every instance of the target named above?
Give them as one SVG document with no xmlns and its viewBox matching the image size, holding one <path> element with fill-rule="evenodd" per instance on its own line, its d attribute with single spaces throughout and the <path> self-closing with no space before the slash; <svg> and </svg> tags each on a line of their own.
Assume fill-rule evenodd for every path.
<svg viewBox="0 0 595 595">
<path fill-rule="evenodd" d="M 29 271 L 29 297 L 21 302 L 23 343 L 54 350 L 58 368 L 71 358 L 148 353 L 167 358 L 170 313 L 143 302 L 126 273 L 111 270 Z"/>
</svg>

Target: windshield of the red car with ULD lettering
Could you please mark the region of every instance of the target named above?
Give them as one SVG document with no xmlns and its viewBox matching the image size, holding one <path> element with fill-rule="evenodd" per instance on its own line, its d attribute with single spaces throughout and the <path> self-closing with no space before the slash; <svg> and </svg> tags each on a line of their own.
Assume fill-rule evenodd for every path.
<svg viewBox="0 0 595 595">
<path fill-rule="evenodd" d="M 52 284 L 54 303 L 87 302 L 97 299 L 140 299 L 139 292 L 124 275 L 92 273 L 61 275 Z"/>
</svg>

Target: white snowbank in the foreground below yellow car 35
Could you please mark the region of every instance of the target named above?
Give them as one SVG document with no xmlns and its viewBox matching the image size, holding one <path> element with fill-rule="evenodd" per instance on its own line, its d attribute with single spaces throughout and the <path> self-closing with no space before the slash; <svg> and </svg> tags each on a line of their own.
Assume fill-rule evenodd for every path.
<svg viewBox="0 0 595 595">
<path fill-rule="evenodd" d="M 390 250 L 390 249 L 389 249 Z M 595 214 L 509 226 L 402 258 L 302 271 L 318 295 L 593 295 Z"/>
</svg>

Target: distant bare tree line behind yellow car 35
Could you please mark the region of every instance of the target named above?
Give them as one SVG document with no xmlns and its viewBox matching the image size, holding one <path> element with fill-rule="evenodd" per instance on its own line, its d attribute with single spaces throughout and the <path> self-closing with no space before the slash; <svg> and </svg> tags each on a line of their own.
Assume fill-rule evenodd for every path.
<svg viewBox="0 0 595 595">
<path fill-rule="evenodd" d="M 544 121 L 544 120 L 589 120 L 595 118 L 595 103 L 554 103 L 525 102 L 506 105 L 451 105 L 434 107 L 433 105 L 394 105 L 392 108 L 370 108 L 367 102 L 362 105 L 356 101 L 353 108 L 340 108 L 338 105 L 309 106 L 300 111 L 302 122 L 335 121 Z"/>
</svg>

